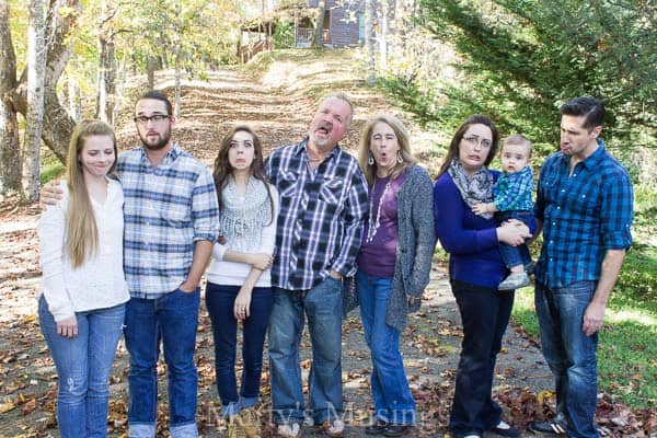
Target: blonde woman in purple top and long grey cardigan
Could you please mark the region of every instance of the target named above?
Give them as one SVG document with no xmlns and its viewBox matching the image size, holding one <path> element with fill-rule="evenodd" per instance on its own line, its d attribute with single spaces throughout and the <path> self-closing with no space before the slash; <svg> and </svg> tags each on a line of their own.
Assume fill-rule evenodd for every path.
<svg viewBox="0 0 657 438">
<path fill-rule="evenodd" d="M 431 178 L 413 157 L 403 123 L 389 114 L 367 123 L 358 161 L 369 185 L 357 290 L 372 357 L 374 415 L 368 435 L 401 437 L 415 423 L 415 401 L 400 353 L 406 315 L 419 309 L 436 244 Z"/>
</svg>

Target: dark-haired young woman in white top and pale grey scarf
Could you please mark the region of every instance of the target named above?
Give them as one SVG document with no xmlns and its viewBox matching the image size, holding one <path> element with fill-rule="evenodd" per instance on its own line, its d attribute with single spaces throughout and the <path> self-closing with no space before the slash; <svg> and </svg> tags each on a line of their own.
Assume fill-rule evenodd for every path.
<svg viewBox="0 0 657 438">
<path fill-rule="evenodd" d="M 215 161 L 221 242 L 212 250 L 206 308 L 212 323 L 217 388 L 228 438 L 261 436 L 256 412 L 263 344 L 272 311 L 269 266 L 276 240 L 278 192 L 267 183 L 263 148 L 247 126 L 221 141 Z M 235 379 L 237 330 L 242 323 L 240 391 Z"/>
</svg>

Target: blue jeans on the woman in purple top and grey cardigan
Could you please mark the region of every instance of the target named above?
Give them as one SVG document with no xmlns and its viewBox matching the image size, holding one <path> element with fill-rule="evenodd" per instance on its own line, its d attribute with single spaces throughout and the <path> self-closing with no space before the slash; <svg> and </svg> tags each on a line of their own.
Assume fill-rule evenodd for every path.
<svg viewBox="0 0 657 438">
<path fill-rule="evenodd" d="M 359 270 L 357 285 L 365 341 L 372 356 L 374 416 L 387 423 L 412 424 L 415 418 L 415 400 L 408 388 L 400 353 L 400 332 L 385 324 L 392 278 L 371 277 Z"/>
</svg>

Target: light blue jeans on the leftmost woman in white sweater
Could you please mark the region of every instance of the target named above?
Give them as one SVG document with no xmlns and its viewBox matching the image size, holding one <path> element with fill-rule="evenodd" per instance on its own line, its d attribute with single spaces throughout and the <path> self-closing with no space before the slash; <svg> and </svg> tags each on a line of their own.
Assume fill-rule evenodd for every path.
<svg viewBox="0 0 657 438">
<path fill-rule="evenodd" d="M 62 438 L 107 436 L 107 379 L 120 337 L 125 304 L 77 312 L 78 336 L 64 337 L 38 300 L 38 322 L 53 355 L 59 391 L 57 423 Z"/>
</svg>

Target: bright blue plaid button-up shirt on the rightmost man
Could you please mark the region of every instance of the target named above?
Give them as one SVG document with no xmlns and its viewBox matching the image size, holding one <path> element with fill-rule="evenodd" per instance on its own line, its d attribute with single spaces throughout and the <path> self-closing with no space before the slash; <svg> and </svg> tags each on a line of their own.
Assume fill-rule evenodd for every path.
<svg viewBox="0 0 657 438">
<path fill-rule="evenodd" d="M 537 281 L 562 288 L 598 280 L 607 250 L 632 243 L 630 175 L 598 140 L 598 149 L 569 173 L 570 158 L 550 155 L 539 177 L 535 215 L 543 221 Z"/>
</svg>

